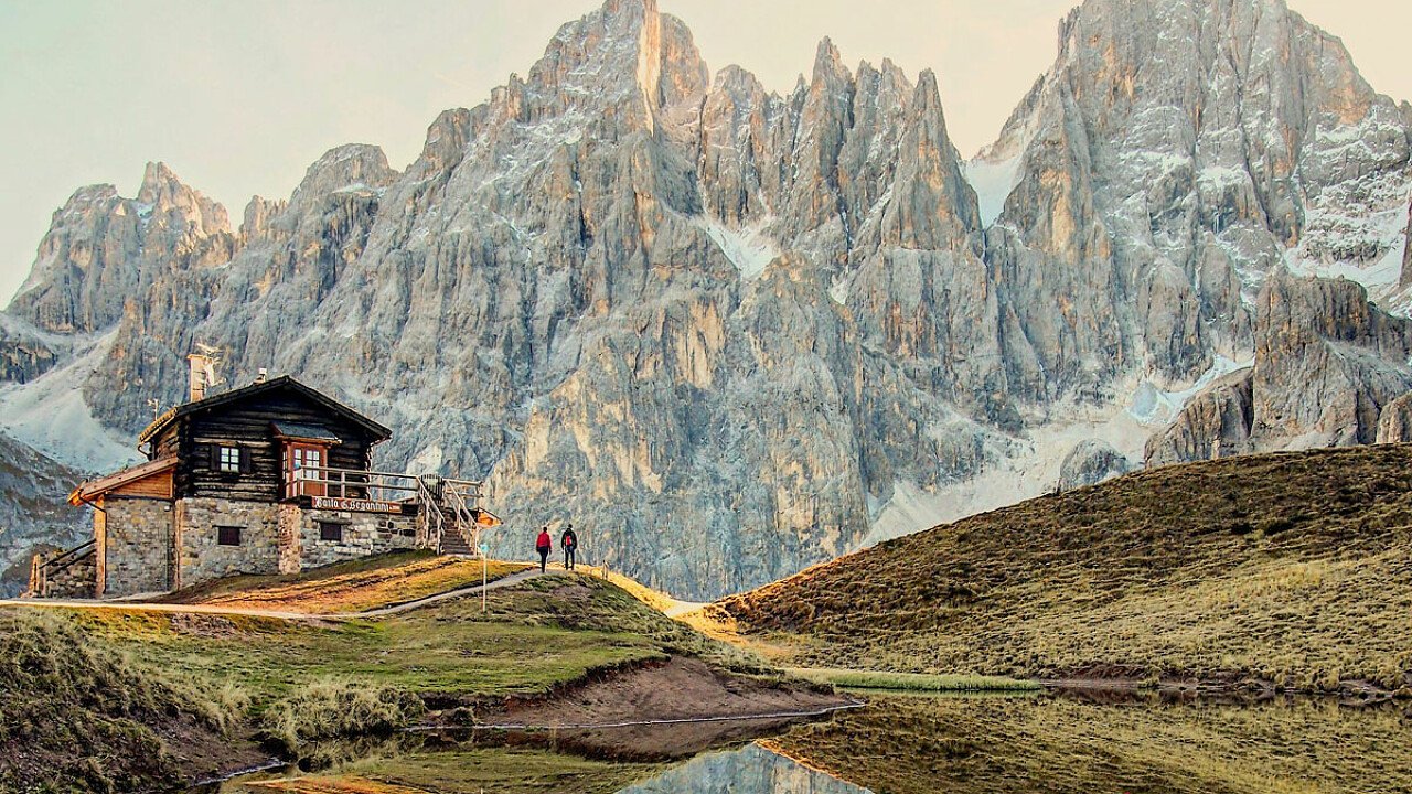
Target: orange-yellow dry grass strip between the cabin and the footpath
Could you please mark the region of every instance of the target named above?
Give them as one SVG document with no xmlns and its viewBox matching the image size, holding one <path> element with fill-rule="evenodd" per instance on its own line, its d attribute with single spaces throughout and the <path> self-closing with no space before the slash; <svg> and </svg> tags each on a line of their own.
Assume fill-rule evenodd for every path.
<svg viewBox="0 0 1412 794">
<path fill-rule="evenodd" d="M 524 562 L 489 565 L 490 581 L 527 571 Z M 171 603 L 270 609 L 305 615 L 366 612 L 470 588 L 481 564 L 453 557 L 394 554 L 311 571 L 298 576 L 233 576 L 168 596 Z"/>
</svg>

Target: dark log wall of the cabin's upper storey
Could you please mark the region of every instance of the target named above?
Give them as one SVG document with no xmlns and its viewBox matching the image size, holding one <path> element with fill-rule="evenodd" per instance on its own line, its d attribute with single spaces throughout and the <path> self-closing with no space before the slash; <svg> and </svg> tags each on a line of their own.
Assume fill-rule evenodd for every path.
<svg viewBox="0 0 1412 794">
<path fill-rule="evenodd" d="M 371 465 L 367 431 L 322 405 L 291 394 L 270 394 L 243 400 L 178 420 L 182 462 L 176 470 L 179 496 L 275 502 L 284 497 L 282 442 L 274 438 L 271 422 L 316 425 L 329 429 L 343 444 L 329 449 L 328 463 L 342 469 Z M 210 448 L 230 444 L 250 449 L 250 470 L 230 475 L 210 465 Z"/>
</svg>

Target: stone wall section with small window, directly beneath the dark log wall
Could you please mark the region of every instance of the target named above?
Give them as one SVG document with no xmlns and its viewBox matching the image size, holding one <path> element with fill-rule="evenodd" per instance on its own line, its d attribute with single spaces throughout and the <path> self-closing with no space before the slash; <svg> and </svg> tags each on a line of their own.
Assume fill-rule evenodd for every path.
<svg viewBox="0 0 1412 794">
<path fill-rule="evenodd" d="M 236 574 L 278 574 L 278 504 L 267 502 L 233 499 L 178 502 L 176 545 L 181 571 L 175 586 L 189 588 Z M 219 527 L 240 527 L 240 544 L 220 545 Z"/>
</svg>

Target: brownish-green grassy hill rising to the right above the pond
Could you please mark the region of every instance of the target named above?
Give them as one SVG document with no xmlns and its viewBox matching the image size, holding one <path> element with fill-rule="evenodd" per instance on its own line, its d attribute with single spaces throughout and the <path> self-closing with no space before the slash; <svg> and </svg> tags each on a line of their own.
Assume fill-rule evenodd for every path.
<svg viewBox="0 0 1412 794">
<path fill-rule="evenodd" d="M 707 616 L 795 665 L 1412 685 L 1412 448 L 1171 466 L 905 537 Z"/>
</svg>

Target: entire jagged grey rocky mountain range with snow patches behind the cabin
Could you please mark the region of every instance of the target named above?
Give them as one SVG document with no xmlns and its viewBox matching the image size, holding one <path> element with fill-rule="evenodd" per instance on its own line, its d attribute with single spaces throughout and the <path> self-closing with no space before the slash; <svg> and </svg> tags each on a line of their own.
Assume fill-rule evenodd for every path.
<svg viewBox="0 0 1412 794">
<path fill-rule="evenodd" d="M 1252 359 L 1248 435 L 1371 439 L 1398 324 L 1269 287 L 1385 273 L 1409 126 L 1274 0 L 1090 0 L 963 162 L 931 73 L 823 41 L 781 96 L 610 0 L 405 170 L 340 147 L 239 232 L 161 167 L 79 191 L 0 325 L 0 408 L 62 384 L 131 434 L 216 345 L 233 383 L 292 373 L 393 425 L 384 466 L 486 478 L 511 527 L 569 519 L 593 561 L 719 595 L 986 478 L 1048 490 L 1055 428 L 1135 459 L 1175 417 L 1199 429 L 1156 458 L 1210 454 L 1245 408 L 1182 411 Z"/>
</svg>

